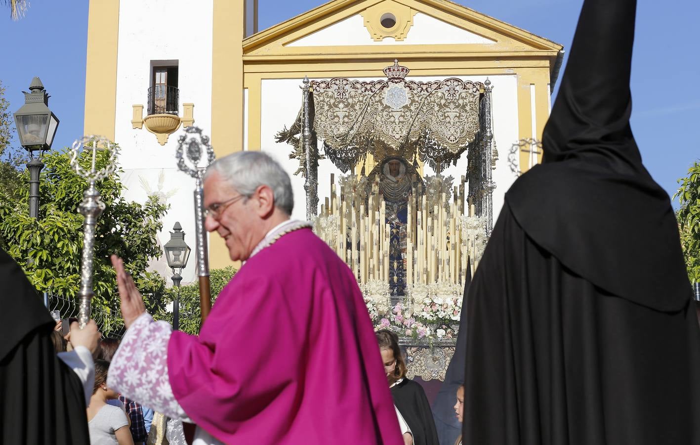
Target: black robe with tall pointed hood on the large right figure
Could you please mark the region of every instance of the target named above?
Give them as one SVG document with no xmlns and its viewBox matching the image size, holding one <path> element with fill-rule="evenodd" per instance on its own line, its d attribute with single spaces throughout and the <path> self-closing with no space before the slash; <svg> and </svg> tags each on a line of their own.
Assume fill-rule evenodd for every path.
<svg viewBox="0 0 700 445">
<path fill-rule="evenodd" d="M 542 165 L 468 297 L 465 444 L 700 444 L 700 330 L 629 125 L 635 0 L 585 0 Z"/>
</svg>

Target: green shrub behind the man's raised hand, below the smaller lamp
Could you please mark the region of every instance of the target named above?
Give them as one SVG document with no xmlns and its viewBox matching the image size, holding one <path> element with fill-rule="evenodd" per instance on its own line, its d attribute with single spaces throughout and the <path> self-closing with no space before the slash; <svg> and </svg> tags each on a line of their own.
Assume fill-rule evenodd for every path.
<svg viewBox="0 0 700 445">
<path fill-rule="evenodd" d="M 231 280 L 235 273 L 236 269 L 233 266 L 209 271 L 212 304 L 216 300 L 216 296 L 221 292 L 221 289 Z M 169 299 L 174 299 L 177 294 L 176 287 L 171 287 L 168 291 Z M 154 315 L 154 318 L 165 320 L 170 324 L 173 322 L 172 312 L 167 312 L 165 310 L 160 310 Z M 193 282 L 190 285 L 180 287 L 180 330 L 188 334 L 198 334 L 200 332 L 201 321 L 200 283 Z"/>
</svg>

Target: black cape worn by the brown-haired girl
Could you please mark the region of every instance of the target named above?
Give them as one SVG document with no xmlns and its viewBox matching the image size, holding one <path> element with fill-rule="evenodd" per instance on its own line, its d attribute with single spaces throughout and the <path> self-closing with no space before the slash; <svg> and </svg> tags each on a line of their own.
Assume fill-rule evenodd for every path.
<svg viewBox="0 0 700 445">
<path fill-rule="evenodd" d="M 433 412 L 423 387 L 404 378 L 391 387 L 391 397 L 413 434 L 414 445 L 439 445 Z"/>
</svg>

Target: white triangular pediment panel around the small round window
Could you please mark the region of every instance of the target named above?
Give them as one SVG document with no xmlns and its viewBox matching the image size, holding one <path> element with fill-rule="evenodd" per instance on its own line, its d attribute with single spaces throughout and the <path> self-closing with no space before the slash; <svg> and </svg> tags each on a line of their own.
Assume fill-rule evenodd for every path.
<svg viewBox="0 0 700 445">
<path fill-rule="evenodd" d="M 440 45 L 449 43 L 496 43 L 479 34 L 456 27 L 423 13 L 416 13 L 413 25 L 405 39 L 384 37 L 374 41 L 364 24 L 362 15 L 351 15 L 323 29 L 319 29 L 286 46 L 354 46 L 354 45 Z"/>
</svg>

